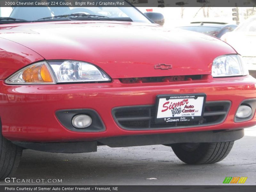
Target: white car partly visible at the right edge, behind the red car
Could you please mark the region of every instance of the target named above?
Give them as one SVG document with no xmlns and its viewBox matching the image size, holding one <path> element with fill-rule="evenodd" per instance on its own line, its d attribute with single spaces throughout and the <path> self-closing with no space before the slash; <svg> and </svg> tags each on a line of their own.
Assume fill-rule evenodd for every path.
<svg viewBox="0 0 256 192">
<path fill-rule="evenodd" d="M 247 19 L 233 32 L 224 34 L 221 39 L 243 56 L 250 74 L 256 77 L 256 16 Z"/>
</svg>

